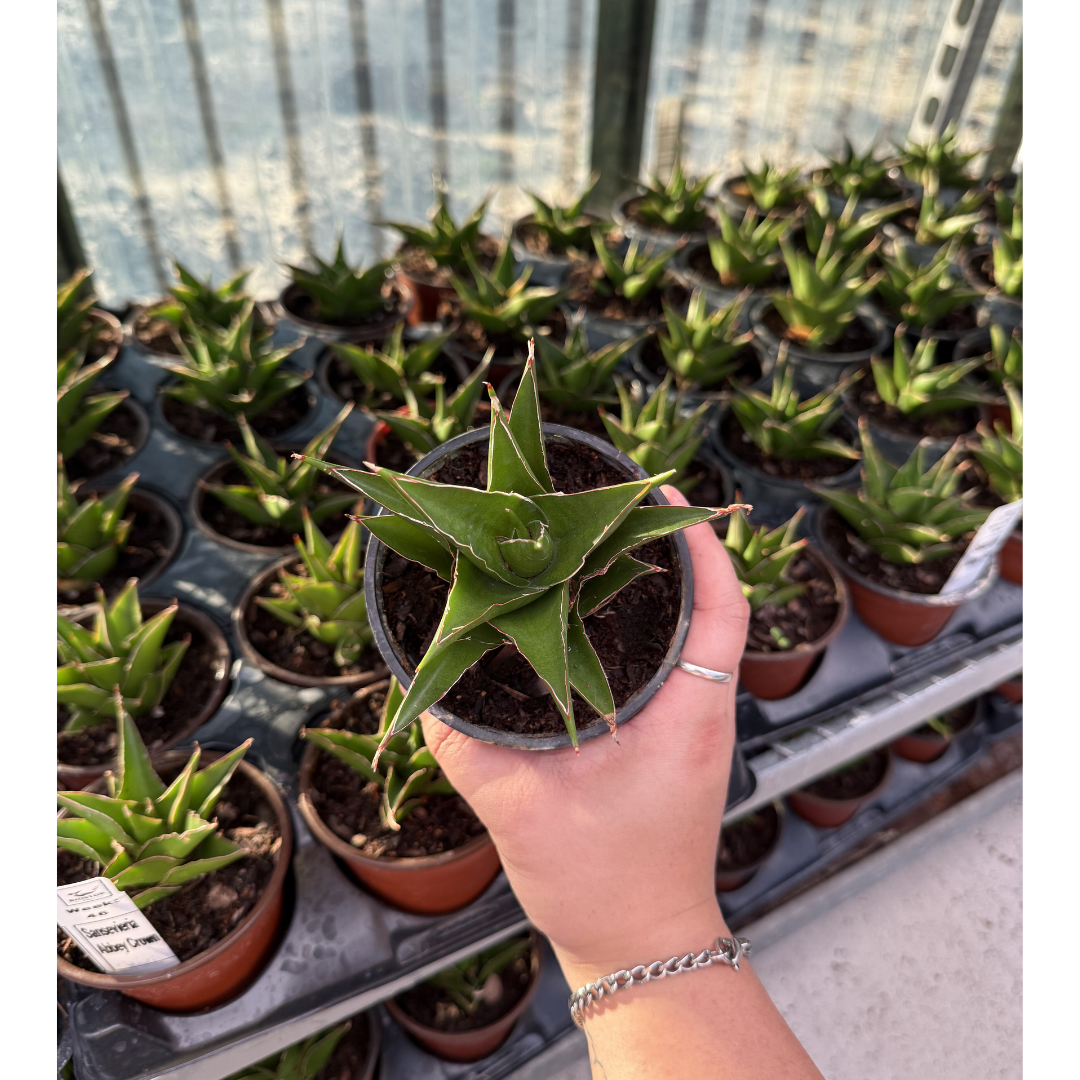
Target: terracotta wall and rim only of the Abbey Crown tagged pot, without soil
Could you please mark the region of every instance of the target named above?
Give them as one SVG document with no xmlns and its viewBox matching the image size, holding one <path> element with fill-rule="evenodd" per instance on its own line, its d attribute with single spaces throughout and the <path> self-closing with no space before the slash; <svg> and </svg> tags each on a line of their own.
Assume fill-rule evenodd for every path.
<svg viewBox="0 0 1080 1080">
<path fill-rule="evenodd" d="M 219 756 L 206 754 L 205 759 L 213 760 Z M 161 764 L 175 761 L 179 766 L 186 760 L 187 755 L 171 754 Z M 241 761 L 239 768 L 266 796 L 281 832 L 278 865 L 262 895 L 240 924 L 204 953 L 164 971 L 113 975 L 84 971 L 57 956 L 57 975 L 95 990 L 119 990 L 154 1009 L 178 1013 L 200 1012 L 225 1004 L 254 982 L 270 959 L 278 937 L 284 906 L 285 875 L 293 855 L 293 823 L 273 782 L 246 761 Z M 102 781 L 96 786 L 105 789 Z"/>
</svg>

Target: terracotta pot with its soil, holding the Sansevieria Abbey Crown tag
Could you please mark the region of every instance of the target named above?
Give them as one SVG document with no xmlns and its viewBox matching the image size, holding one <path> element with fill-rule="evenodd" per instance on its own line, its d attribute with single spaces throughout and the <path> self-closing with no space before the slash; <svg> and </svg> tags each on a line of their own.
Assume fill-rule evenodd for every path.
<svg viewBox="0 0 1080 1080">
<path fill-rule="evenodd" d="M 204 753 L 208 764 L 221 757 Z M 168 780 L 188 759 L 176 752 L 154 759 Z M 105 780 L 90 788 L 106 794 Z M 57 815 L 64 818 L 66 810 Z M 144 909 L 180 963 L 144 974 L 111 974 L 71 955 L 70 939 L 57 933 L 56 974 L 95 990 L 119 990 L 166 1012 L 191 1013 L 231 1001 L 269 960 L 284 914 L 284 887 L 293 855 L 293 823 L 274 783 L 240 761 L 216 807 L 227 839 L 247 851 L 244 859 L 181 886 L 179 892 Z M 63 856 L 63 862 L 62 862 Z M 246 864 L 246 866 L 245 866 Z M 56 879 L 75 883 L 97 877 L 100 867 L 57 848 Z M 156 910 L 157 908 L 157 910 Z M 83 963 L 87 966 L 84 967 Z"/>
</svg>

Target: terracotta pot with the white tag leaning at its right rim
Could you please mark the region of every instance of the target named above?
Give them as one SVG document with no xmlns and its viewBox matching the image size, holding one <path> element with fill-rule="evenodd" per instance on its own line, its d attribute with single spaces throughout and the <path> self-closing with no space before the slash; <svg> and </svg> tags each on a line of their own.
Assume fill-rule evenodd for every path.
<svg viewBox="0 0 1080 1080">
<path fill-rule="evenodd" d="M 950 593 L 948 596 L 907 593 L 900 589 L 880 585 L 849 566 L 829 548 L 822 523 L 826 519 L 826 515 L 833 513 L 835 511 L 826 510 L 815 515 L 813 530 L 818 546 L 843 575 L 859 618 L 893 645 L 914 646 L 932 642 L 958 608 L 968 600 L 982 596 L 997 579 L 997 561 L 993 561 L 978 581 L 969 585 L 963 592 Z"/>
</svg>

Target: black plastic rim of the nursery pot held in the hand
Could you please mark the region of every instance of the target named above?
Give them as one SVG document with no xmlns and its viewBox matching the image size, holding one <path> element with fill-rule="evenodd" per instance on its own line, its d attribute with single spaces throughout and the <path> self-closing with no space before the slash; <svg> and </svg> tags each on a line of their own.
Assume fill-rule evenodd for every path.
<svg viewBox="0 0 1080 1080">
<path fill-rule="evenodd" d="M 576 431 L 573 428 L 565 428 L 557 423 L 545 423 L 543 426 L 543 431 L 549 441 L 556 441 L 565 444 L 576 443 L 594 450 L 612 464 L 617 464 L 621 469 L 625 470 L 627 480 L 644 480 L 648 475 L 643 469 L 631 461 L 630 458 L 620 454 L 609 443 L 597 438 L 595 435 L 590 435 L 582 431 Z M 430 476 L 438 470 L 445 458 L 456 454 L 467 446 L 472 445 L 473 443 L 486 441 L 487 438 L 488 432 L 486 429 L 482 428 L 474 431 L 467 431 L 464 434 L 458 435 L 456 438 L 451 438 L 448 443 L 444 443 L 442 446 L 432 450 L 427 457 L 421 458 L 411 469 L 409 469 L 409 475 Z M 658 490 L 649 492 L 645 502 L 652 503 L 654 505 L 667 504 L 667 500 Z M 379 513 L 386 513 L 386 511 L 380 509 Z M 632 716 L 640 712 L 640 710 L 648 704 L 660 687 L 663 686 L 664 680 L 675 666 L 675 662 L 678 660 L 679 653 L 683 651 L 683 645 L 686 642 L 687 631 L 690 626 L 690 611 L 693 608 L 693 573 L 690 568 L 690 551 L 687 548 L 686 540 L 684 539 L 681 532 L 672 534 L 670 539 L 673 545 L 673 554 L 676 559 L 679 581 L 681 584 L 679 615 L 675 626 L 675 633 L 672 636 L 671 644 L 667 647 L 667 652 L 665 653 L 663 662 L 657 673 L 644 687 L 642 687 L 642 689 L 634 693 L 633 697 L 631 697 L 630 700 L 616 712 L 617 725 L 625 724 Z M 382 567 L 386 563 L 386 545 L 382 544 L 378 538 L 373 536 L 367 545 L 367 558 L 365 562 L 367 572 L 364 575 L 364 593 L 367 600 L 367 615 L 370 620 L 372 630 L 375 632 L 375 644 L 378 647 L 379 652 L 382 653 L 382 659 L 390 666 L 390 670 L 397 677 L 397 680 L 402 684 L 402 686 L 408 687 L 413 681 L 413 675 L 404 666 L 403 656 L 397 649 L 387 621 L 386 606 L 381 589 Z M 432 705 L 430 712 L 436 719 L 442 720 L 456 731 L 461 731 L 473 739 L 481 740 L 482 742 L 497 743 L 501 746 L 513 746 L 516 750 L 558 750 L 563 746 L 571 745 L 570 737 L 565 731 L 556 735 L 526 735 L 513 731 L 497 731 L 492 728 L 471 724 L 468 720 L 462 719 L 457 714 L 451 713 L 442 704 Z M 578 739 L 579 742 L 584 742 L 586 739 L 594 739 L 597 735 L 606 735 L 607 733 L 608 727 L 606 724 L 591 724 L 589 727 L 579 729 Z M 742 797 L 745 798 L 745 795 Z"/>
</svg>

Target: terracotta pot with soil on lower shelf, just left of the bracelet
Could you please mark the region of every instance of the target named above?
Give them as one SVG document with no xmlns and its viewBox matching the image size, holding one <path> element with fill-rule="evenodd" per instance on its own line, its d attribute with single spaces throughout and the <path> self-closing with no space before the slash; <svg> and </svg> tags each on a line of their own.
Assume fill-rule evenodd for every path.
<svg viewBox="0 0 1080 1080">
<path fill-rule="evenodd" d="M 510 1038 L 532 1003 L 540 985 L 542 956 L 540 939 L 530 930 L 527 953 L 497 974 L 497 983 L 485 982 L 481 1003 L 472 1014 L 464 1013 L 449 994 L 430 983 L 390 998 L 386 1002 L 387 1012 L 436 1057 L 448 1062 L 480 1061 L 494 1054 Z"/>
</svg>

